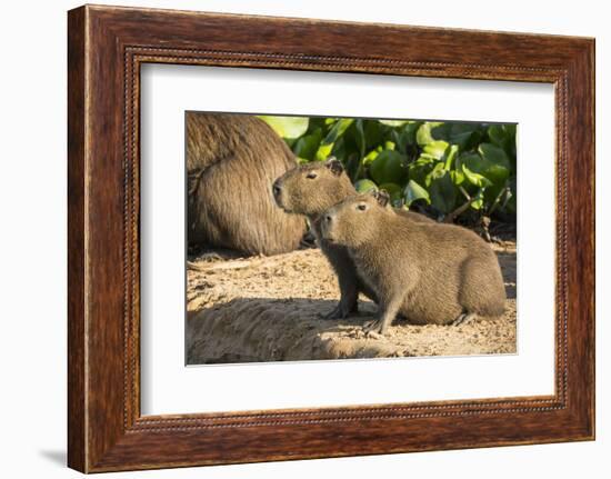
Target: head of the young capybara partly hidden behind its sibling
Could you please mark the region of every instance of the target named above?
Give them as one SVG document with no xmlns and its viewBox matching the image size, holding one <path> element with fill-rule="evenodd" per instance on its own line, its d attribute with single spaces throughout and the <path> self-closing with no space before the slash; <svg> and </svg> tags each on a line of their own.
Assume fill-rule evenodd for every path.
<svg viewBox="0 0 611 479">
<path fill-rule="evenodd" d="M 280 208 L 307 216 L 321 214 L 354 192 L 343 166 L 334 157 L 293 168 L 272 184 Z"/>
</svg>

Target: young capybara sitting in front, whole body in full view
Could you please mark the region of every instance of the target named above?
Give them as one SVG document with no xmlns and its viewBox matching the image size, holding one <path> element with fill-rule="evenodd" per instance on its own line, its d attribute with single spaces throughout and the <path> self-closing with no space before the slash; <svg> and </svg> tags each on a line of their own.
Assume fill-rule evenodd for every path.
<svg viewBox="0 0 611 479">
<path fill-rule="evenodd" d="M 324 240 L 347 247 L 375 291 L 378 319 L 365 330 L 385 333 L 398 313 L 417 325 L 500 317 L 505 290 L 492 249 L 465 228 L 405 220 L 388 201 L 385 192 L 354 196 L 321 221 Z"/>
</svg>

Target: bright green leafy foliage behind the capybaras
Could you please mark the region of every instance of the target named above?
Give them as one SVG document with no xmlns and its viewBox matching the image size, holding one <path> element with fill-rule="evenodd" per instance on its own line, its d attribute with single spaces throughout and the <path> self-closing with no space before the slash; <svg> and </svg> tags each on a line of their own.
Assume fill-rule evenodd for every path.
<svg viewBox="0 0 611 479">
<path fill-rule="evenodd" d="M 260 117 L 300 162 L 337 157 L 358 191 L 438 218 L 515 214 L 515 124 Z"/>
</svg>

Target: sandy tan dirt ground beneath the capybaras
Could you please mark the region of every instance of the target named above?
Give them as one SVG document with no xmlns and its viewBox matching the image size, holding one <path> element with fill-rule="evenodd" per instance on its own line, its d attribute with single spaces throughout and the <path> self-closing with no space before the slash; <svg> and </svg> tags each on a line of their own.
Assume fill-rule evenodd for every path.
<svg viewBox="0 0 611 479">
<path fill-rule="evenodd" d="M 515 242 L 492 248 L 505 280 L 503 318 L 458 327 L 398 320 L 384 337 L 362 332 L 375 311 L 363 297 L 358 315 L 322 319 L 339 290 L 318 249 L 267 258 L 207 251 L 188 263 L 188 363 L 515 352 Z"/>
</svg>

